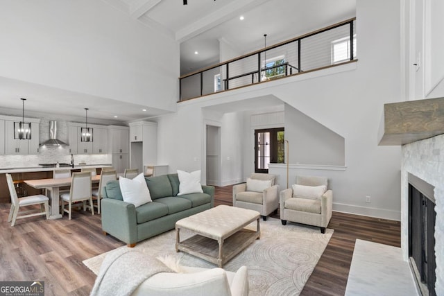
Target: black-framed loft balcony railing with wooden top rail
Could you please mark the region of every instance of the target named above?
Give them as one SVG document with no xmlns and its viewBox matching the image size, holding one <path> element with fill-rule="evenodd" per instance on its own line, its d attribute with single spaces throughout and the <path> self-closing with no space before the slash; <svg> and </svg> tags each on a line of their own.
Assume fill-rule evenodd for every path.
<svg viewBox="0 0 444 296">
<path fill-rule="evenodd" d="M 179 78 L 179 101 L 357 60 L 356 18 Z"/>
</svg>

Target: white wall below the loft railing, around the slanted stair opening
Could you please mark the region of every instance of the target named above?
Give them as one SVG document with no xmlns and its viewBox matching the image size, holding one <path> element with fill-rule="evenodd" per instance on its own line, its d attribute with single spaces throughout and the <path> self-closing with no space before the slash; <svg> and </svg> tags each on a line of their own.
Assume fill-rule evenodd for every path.
<svg viewBox="0 0 444 296">
<path fill-rule="evenodd" d="M 393 58 L 400 54 L 400 3 L 358 0 L 357 35 L 357 63 L 180 103 L 176 115 L 159 121 L 159 141 L 163 142 L 160 162 L 188 171 L 203 169 L 205 129 L 201 110 L 232 103 L 230 112 L 234 112 L 234 102 L 245 107 L 245 100 L 251 101 L 251 109 L 255 109 L 253 98 L 272 95 L 345 138 L 343 171 L 302 171 L 333 179 L 335 210 L 399 220 L 400 147 L 377 146 L 377 131 L 383 104 L 401 99 L 400 60 Z M 242 178 L 254 168 L 248 120 L 244 118 L 244 125 L 239 126 L 244 132 L 241 148 L 236 151 L 230 147 L 230 153 L 242 159 Z M 174 142 L 177 144 L 171 146 Z M 228 147 L 222 143 L 225 145 Z M 370 204 L 366 203 L 367 195 L 371 196 Z"/>
</svg>

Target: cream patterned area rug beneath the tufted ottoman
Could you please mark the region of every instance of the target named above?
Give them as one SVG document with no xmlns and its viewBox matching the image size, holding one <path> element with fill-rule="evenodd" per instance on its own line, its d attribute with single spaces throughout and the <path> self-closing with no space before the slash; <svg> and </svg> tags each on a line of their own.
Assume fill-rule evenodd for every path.
<svg viewBox="0 0 444 296">
<path fill-rule="evenodd" d="M 248 228 L 255 229 L 255 226 L 254 222 Z M 260 239 L 228 261 L 223 268 L 235 272 L 242 265 L 247 266 L 250 296 L 299 295 L 330 241 L 333 229 L 327 229 L 325 234 L 321 234 L 319 227 L 290 222 L 283 226 L 275 218 L 261 220 L 260 228 Z M 180 231 L 181 240 L 191 235 L 185 229 Z M 137 243 L 134 250 L 152 256 L 176 256 L 180 265 L 216 267 L 195 256 L 176 253 L 175 244 L 176 231 L 171 230 Z M 97 275 L 103 259 L 110 252 L 87 259 L 83 263 Z"/>
</svg>

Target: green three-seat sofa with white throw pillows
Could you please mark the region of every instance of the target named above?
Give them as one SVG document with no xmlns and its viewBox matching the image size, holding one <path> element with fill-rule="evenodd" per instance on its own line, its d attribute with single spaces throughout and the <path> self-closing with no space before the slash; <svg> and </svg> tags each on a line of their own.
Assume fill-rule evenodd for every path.
<svg viewBox="0 0 444 296">
<path fill-rule="evenodd" d="M 135 207 L 123 202 L 119 181 L 104 187 L 101 200 L 103 232 L 134 247 L 139 241 L 167 232 L 176 221 L 214 207 L 214 187 L 202 186 L 203 193 L 178 195 L 178 174 L 146 177 L 153 202 Z"/>
</svg>

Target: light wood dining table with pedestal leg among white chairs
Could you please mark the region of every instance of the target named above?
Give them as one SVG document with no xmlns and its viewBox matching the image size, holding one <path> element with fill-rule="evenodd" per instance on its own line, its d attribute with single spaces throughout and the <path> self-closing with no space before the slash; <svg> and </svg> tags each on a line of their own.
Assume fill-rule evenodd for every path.
<svg viewBox="0 0 444 296">
<path fill-rule="evenodd" d="M 59 189 L 60 187 L 71 186 L 72 177 L 64 178 L 49 178 L 49 179 L 36 179 L 36 180 L 24 180 L 25 184 L 35 189 L 51 189 L 47 192 L 50 196 L 51 204 L 49 207 L 49 219 L 60 219 L 60 203 L 59 203 Z M 100 175 L 94 175 L 91 177 L 92 184 L 100 182 Z"/>
</svg>

